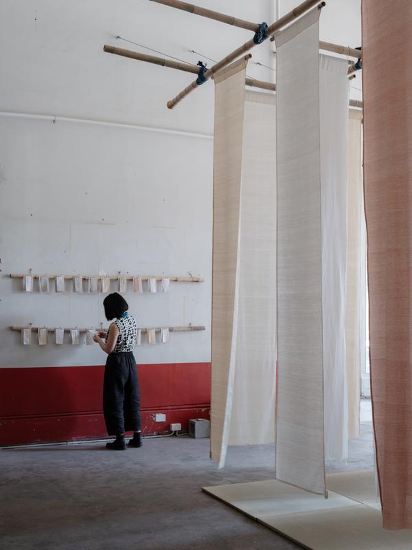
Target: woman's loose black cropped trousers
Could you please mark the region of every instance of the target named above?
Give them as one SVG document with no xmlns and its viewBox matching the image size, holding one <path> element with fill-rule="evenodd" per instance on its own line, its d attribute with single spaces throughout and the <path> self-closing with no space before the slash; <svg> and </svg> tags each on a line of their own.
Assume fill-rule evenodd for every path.
<svg viewBox="0 0 412 550">
<path fill-rule="evenodd" d="M 107 356 L 103 413 L 108 435 L 141 430 L 139 381 L 131 351 L 109 353 Z"/>
</svg>

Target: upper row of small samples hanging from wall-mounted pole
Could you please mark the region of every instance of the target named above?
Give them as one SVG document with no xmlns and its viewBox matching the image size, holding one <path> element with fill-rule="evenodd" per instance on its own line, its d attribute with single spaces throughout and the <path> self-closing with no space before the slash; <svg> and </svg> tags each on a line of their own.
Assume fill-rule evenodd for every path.
<svg viewBox="0 0 412 550">
<path fill-rule="evenodd" d="M 50 278 L 54 278 L 54 289 L 56 292 L 67 292 L 68 289 L 73 289 L 74 292 L 84 292 L 83 281 L 87 283 L 87 292 L 102 292 L 103 294 L 108 294 L 111 292 L 111 281 L 115 281 L 117 286 L 117 292 L 125 294 L 128 289 L 128 279 L 131 280 L 133 284 L 133 291 L 137 293 L 146 292 L 155 293 L 155 292 L 169 292 L 170 290 L 170 278 L 163 277 L 159 281 L 156 277 L 145 277 L 144 280 L 141 276 L 122 276 L 118 277 L 108 277 L 108 276 L 89 276 L 84 277 L 82 275 L 73 275 L 69 278 L 72 281 L 72 285 L 67 289 L 66 281 L 67 276 L 57 275 L 50 277 L 49 275 L 24 275 L 23 276 L 23 291 L 24 292 L 34 292 L 34 279 L 38 279 L 38 291 L 39 292 L 50 292 L 52 285 L 50 285 Z"/>
</svg>

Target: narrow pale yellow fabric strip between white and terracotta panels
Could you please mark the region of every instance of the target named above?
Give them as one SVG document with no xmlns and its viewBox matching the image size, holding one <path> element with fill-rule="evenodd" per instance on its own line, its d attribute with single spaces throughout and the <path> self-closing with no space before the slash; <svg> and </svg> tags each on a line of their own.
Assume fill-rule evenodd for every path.
<svg viewBox="0 0 412 550">
<path fill-rule="evenodd" d="M 365 362 L 365 214 L 362 186 L 362 111 L 350 109 L 348 131 L 347 295 L 345 316 L 349 437 L 359 437 L 361 364 Z"/>
</svg>

